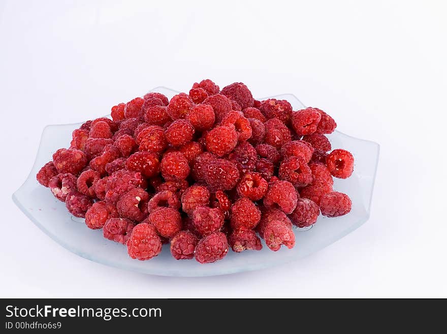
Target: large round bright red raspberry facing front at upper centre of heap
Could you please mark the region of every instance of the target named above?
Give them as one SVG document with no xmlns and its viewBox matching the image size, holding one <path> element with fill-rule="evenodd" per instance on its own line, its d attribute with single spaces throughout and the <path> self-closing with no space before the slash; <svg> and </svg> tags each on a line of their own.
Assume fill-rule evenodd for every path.
<svg viewBox="0 0 447 334">
<path fill-rule="evenodd" d="M 206 149 L 218 157 L 222 157 L 236 147 L 238 133 L 234 126 L 218 126 L 206 134 Z"/>
</svg>

